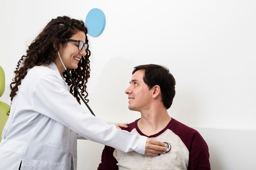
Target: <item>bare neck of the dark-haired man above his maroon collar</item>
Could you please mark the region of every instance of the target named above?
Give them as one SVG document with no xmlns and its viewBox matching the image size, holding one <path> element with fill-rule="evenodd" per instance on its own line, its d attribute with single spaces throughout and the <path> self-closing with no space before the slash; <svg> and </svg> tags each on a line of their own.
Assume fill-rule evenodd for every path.
<svg viewBox="0 0 256 170">
<path fill-rule="evenodd" d="M 171 121 L 167 110 L 150 110 L 141 113 L 141 119 L 138 121 L 139 130 L 147 136 L 154 135 L 163 130 Z"/>
</svg>

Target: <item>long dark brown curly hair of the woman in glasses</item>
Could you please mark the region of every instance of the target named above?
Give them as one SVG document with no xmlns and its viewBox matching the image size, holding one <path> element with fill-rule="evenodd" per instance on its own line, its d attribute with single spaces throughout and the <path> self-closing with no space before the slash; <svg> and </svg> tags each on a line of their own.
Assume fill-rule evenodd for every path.
<svg viewBox="0 0 256 170">
<path fill-rule="evenodd" d="M 10 84 L 11 101 L 13 100 L 13 97 L 16 96 L 18 86 L 21 84 L 22 79 L 27 75 L 27 71 L 34 66 L 40 66 L 43 64 L 49 65 L 51 62 L 54 62 L 57 57 L 60 44 L 65 46 L 67 43 L 65 42 L 65 39 L 72 37 L 72 35 L 76 34 L 77 31 L 83 31 L 85 33 L 85 43 L 88 44 L 88 30 L 82 20 L 71 19 L 67 16 L 59 16 L 52 19 L 45 26 L 43 31 L 39 33 L 36 39 L 28 47 L 27 55 L 22 55 L 21 59 L 18 61 L 16 70 L 14 71 L 15 77 L 12 79 L 13 82 Z M 56 49 L 54 49 L 53 42 L 56 43 Z M 89 101 L 86 99 L 86 97 L 88 97 L 86 83 L 90 77 L 90 55 L 90 50 L 87 48 L 86 55 L 82 57 L 78 63 L 78 68 L 67 69 L 76 82 L 76 86 L 86 102 Z M 70 93 L 76 97 L 76 100 L 81 104 L 78 93 L 74 91 L 71 79 L 67 77 L 65 72 L 63 72 L 63 77 L 65 78 L 65 82 L 67 82 L 69 86 L 71 85 Z"/>
</svg>

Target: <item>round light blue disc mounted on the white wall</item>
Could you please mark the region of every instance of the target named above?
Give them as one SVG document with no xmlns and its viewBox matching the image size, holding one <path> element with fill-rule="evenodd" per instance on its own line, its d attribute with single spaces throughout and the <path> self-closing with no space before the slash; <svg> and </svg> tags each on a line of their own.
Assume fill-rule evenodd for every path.
<svg viewBox="0 0 256 170">
<path fill-rule="evenodd" d="M 92 37 L 98 37 L 104 31 L 106 25 L 106 17 L 101 9 L 91 9 L 86 18 L 85 26 L 88 29 L 88 34 Z"/>
</svg>

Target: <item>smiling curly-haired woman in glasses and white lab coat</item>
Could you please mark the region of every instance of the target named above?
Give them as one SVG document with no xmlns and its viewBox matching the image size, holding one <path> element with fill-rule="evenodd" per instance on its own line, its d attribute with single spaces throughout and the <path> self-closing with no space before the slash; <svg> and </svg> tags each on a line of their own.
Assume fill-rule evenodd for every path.
<svg viewBox="0 0 256 170">
<path fill-rule="evenodd" d="M 0 170 L 76 170 L 78 137 L 124 152 L 156 156 L 166 151 L 162 142 L 85 113 L 64 71 L 67 68 L 86 98 L 89 57 L 84 22 L 67 16 L 52 19 L 30 44 L 10 85 L 12 103 L 0 143 Z"/>
</svg>

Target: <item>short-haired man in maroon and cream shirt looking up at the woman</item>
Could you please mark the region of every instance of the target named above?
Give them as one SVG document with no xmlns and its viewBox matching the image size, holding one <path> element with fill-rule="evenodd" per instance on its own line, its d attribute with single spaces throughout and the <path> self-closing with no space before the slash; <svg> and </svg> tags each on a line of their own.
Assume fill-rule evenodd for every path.
<svg viewBox="0 0 256 170">
<path fill-rule="evenodd" d="M 152 157 L 105 146 L 98 170 L 210 170 L 208 146 L 199 132 L 167 113 L 175 96 L 175 79 L 168 68 L 136 66 L 125 93 L 128 108 L 140 112 L 141 118 L 123 130 L 167 142 L 171 150 Z"/>
</svg>

